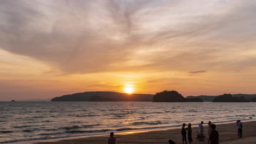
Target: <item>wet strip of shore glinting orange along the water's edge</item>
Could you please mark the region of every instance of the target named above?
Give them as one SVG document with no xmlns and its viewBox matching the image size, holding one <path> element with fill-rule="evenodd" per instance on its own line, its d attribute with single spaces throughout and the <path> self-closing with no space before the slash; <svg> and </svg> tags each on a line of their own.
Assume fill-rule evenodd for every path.
<svg viewBox="0 0 256 144">
<path fill-rule="evenodd" d="M 256 126 L 256 120 L 247 120 L 247 121 L 242 121 L 243 124 L 247 123 L 253 123 Z M 214 122 L 213 122 L 214 123 Z M 217 130 L 218 130 L 218 126 L 224 127 L 225 124 L 227 125 L 234 125 L 233 123 L 235 123 L 235 121 L 229 121 L 229 122 L 216 122 L 214 124 L 217 124 Z M 204 124 L 204 128 L 205 130 L 207 130 L 207 123 Z M 175 126 L 172 128 L 157 128 L 157 129 L 148 129 L 148 130 L 141 130 L 141 131 L 122 131 L 122 132 L 116 132 L 115 136 L 125 136 L 125 135 L 139 135 L 139 134 L 148 134 L 148 133 L 163 133 L 167 131 L 180 131 L 180 127 L 181 126 Z M 236 127 L 234 127 L 236 129 Z M 196 131 L 198 130 L 198 126 L 197 125 L 192 125 L 192 129 L 194 134 L 196 133 Z M 35 141 L 23 141 L 23 142 L 14 142 L 13 144 L 16 143 L 20 143 L 20 144 L 62 144 L 63 141 L 80 141 L 80 140 L 84 140 L 84 141 L 93 141 L 93 139 L 98 139 L 100 137 L 100 139 L 107 138 L 108 137 L 108 133 L 107 134 L 93 134 L 93 135 L 85 135 L 85 136 L 75 136 L 75 137 L 62 137 L 62 138 L 55 138 L 55 139 L 47 139 L 47 140 L 35 140 Z M 205 133 L 205 135 L 208 136 L 208 131 L 207 133 Z M 253 135 L 256 136 L 256 135 Z M 96 138 L 95 138 L 96 137 Z M 127 136 L 128 137 L 128 136 Z M 246 136 L 247 137 L 247 136 Z M 194 138 L 195 139 L 195 138 Z M 208 141 L 208 138 L 207 138 Z M 69 144 L 69 143 L 65 143 L 65 144 Z"/>
</svg>

